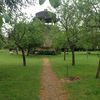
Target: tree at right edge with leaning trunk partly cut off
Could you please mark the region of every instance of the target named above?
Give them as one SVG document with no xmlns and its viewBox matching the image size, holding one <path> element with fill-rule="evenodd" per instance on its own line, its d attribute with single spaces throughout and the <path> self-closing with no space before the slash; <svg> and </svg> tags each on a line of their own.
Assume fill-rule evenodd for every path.
<svg viewBox="0 0 100 100">
<path fill-rule="evenodd" d="M 87 33 L 87 35 L 84 35 L 84 41 L 88 41 L 86 46 L 92 48 L 92 50 L 100 50 L 100 0 L 78 1 L 77 6 L 83 21 L 82 27 L 85 28 Z M 100 58 L 96 72 L 96 78 L 99 78 L 99 73 Z"/>
</svg>

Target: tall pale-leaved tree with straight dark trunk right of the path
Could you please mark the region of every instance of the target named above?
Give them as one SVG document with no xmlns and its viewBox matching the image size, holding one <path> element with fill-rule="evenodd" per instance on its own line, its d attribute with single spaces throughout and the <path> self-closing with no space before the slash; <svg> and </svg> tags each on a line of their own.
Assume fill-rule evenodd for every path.
<svg viewBox="0 0 100 100">
<path fill-rule="evenodd" d="M 75 47 L 79 34 L 80 18 L 74 2 L 63 1 L 58 9 L 62 30 L 66 33 L 67 44 L 72 51 L 72 65 L 75 65 Z"/>
</svg>

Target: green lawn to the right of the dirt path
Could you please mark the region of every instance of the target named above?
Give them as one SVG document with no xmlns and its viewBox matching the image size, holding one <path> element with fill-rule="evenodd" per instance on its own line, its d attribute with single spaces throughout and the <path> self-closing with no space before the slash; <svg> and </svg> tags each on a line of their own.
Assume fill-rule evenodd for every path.
<svg viewBox="0 0 100 100">
<path fill-rule="evenodd" d="M 52 69 L 59 79 L 67 76 L 79 76 L 79 81 L 65 83 L 68 100 L 100 100 L 100 79 L 95 79 L 98 57 L 95 53 L 86 56 L 85 52 L 76 53 L 76 65 L 71 65 L 71 54 L 66 61 L 63 55 L 50 56 Z M 67 70 L 68 67 L 68 70 Z M 67 72 L 68 71 L 68 72 Z"/>
</svg>

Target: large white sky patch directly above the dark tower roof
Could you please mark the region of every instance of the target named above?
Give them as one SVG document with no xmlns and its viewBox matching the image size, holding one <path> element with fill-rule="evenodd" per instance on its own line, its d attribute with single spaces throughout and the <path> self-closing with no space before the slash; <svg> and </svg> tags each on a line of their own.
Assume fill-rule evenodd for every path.
<svg viewBox="0 0 100 100">
<path fill-rule="evenodd" d="M 56 12 L 56 10 L 51 6 L 49 0 L 46 0 L 42 5 L 39 4 L 39 0 L 36 0 L 35 5 L 28 5 L 28 7 L 22 8 L 22 12 L 26 13 L 27 16 L 31 18 L 31 16 L 35 16 L 37 12 L 43 11 L 44 9 Z"/>
</svg>

